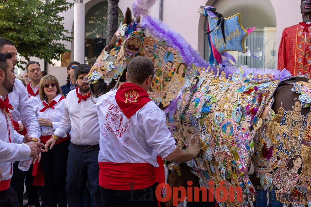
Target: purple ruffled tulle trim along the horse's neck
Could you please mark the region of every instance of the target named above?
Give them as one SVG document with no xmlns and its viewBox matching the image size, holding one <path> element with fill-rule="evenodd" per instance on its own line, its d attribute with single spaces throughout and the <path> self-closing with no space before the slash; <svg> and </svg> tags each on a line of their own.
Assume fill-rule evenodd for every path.
<svg viewBox="0 0 311 207">
<path fill-rule="evenodd" d="M 209 63 L 200 56 L 200 53 L 194 50 L 178 32 L 169 27 L 166 23 L 155 17 L 143 16 L 140 24 L 148 28 L 151 34 L 160 39 L 164 39 L 169 46 L 174 47 L 187 66 L 190 66 L 191 63 L 197 67 L 207 68 L 209 66 Z"/>
</svg>

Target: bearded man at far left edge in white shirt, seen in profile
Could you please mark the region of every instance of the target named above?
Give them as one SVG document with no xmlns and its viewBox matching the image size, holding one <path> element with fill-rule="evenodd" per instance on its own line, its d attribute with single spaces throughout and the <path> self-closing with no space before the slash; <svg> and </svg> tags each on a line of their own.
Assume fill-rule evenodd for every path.
<svg viewBox="0 0 311 207">
<path fill-rule="evenodd" d="M 40 148 L 44 145 L 40 142 L 30 142 L 28 134 L 23 136 L 14 130 L 9 110 L 13 107 L 9 104 L 7 97 L 7 94 L 14 89 L 15 79 L 10 58 L 12 58 L 10 53 L 0 53 L 0 131 L 2 132 L 0 137 L 0 168 L 2 169 L 0 206 L 19 207 L 16 192 L 10 187 L 13 173 L 12 162 L 27 160 L 29 157 L 37 158 Z"/>
</svg>

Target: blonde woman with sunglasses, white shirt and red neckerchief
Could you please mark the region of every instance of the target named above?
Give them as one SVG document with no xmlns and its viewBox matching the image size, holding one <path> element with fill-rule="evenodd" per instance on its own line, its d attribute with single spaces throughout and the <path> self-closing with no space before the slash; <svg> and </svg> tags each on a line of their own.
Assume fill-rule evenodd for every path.
<svg viewBox="0 0 311 207">
<path fill-rule="evenodd" d="M 58 127 L 63 115 L 65 97 L 53 75 L 46 75 L 40 80 L 38 121 L 41 126 L 41 142 L 45 144 Z M 49 207 L 67 207 L 66 167 L 70 136 L 64 132 L 52 150 L 42 153 L 41 164 L 44 173 L 44 184 L 47 188 Z"/>
</svg>

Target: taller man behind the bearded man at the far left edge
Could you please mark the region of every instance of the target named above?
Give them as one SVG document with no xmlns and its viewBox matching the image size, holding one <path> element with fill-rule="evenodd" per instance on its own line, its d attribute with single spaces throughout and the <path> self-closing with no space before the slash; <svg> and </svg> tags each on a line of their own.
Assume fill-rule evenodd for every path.
<svg viewBox="0 0 311 207">
<path fill-rule="evenodd" d="M 0 52 L 10 53 L 13 66 L 16 65 L 17 50 L 12 41 L 0 38 Z M 39 137 L 41 137 L 41 130 L 37 120 L 37 116 L 31 104 L 31 100 L 28 97 L 28 92 L 24 84 L 20 80 L 15 79 L 13 92 L 8 94 L 8 98 L 10 100 L 10 104 L 14 107 L 13 110 L 10 110 L 12 114 L 14 129 L 18 132 L 18 121 L 21 120 L 22 124 L 25 126 L 24 130 L 19 132 L 21 135 L 25 136 L 26 133 L 28 133 L 29 137 L 31 138 L 38 139 Z M 14 170 L 11 179 L 11 186 L 15 189 L 17 193 L 19 205 L 22 206 L 24 194 L 24 171 L 18 169 L 18 163 L 19 162 L 14 162 L 13 164 Z"/>
</svg>

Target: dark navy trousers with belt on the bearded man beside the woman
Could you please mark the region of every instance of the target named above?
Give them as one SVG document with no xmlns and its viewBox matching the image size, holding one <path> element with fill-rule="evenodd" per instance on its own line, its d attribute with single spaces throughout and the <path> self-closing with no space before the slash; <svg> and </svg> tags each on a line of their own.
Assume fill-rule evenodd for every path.
<svg viewBox="0 0 311 207">
<path fill-rule="evenodd" d="M 99 145 L 84 149 L 70 143 L 67 161 L 67 201 L 68 207 L 83 206 L 83 189 L 86 182 L 90 187 L 95 207 L 102 206 L 98 184 Z"/>
</svg>

